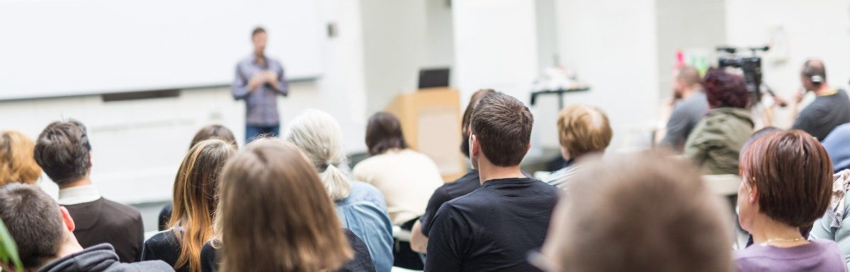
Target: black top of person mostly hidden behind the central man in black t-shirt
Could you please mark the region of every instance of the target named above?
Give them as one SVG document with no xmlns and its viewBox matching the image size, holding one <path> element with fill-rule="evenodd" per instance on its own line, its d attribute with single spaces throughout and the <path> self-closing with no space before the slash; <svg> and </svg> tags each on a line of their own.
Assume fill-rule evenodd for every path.
<svg viewBox="0 0 850 272">
<path fill-rule="evenodd" d="M 419 218 L 419 221 L 422 223 L 422 234 L 428 237 L 428 231 L 431 230 L 431 221 L 437 215 L 439 206 L 457 197 L 465 196 L 480 186 L 481 180 L 479 180 L 478 170 L 472 169 L 460 179 L 446 183 L 443 186 L 439 186 L 437 190 L 434 190 L 431 199 L 428 199 L 428 207 L 425 208 L 425 214 L 422 214 L 422 217 Z"/>
</svg>

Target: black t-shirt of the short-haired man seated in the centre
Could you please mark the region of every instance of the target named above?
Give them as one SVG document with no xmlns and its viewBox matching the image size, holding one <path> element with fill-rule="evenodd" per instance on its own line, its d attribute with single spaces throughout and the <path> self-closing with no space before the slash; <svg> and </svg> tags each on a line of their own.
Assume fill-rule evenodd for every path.
<svg viewBox="0 0 850 272">
<path fill-rule="evenodd" d="M 425 271 L 538 271 L 525 259 L 543 245 L 560 189 L 540 180 L 487 180 L 439 208 Z"/>
</svg>

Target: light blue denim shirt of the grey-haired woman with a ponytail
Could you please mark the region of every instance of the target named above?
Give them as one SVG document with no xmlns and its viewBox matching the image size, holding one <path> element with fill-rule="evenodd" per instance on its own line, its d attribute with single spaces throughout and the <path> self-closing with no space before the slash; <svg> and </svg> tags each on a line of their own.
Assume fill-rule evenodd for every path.
<svg viewBox="0 0 850 272">
<path fill-rule="evenodd" d="M 348 197 L 338 200 L 336 205 L 343 227 L 369 247 L 377 272 L 389 272 L 393 268 L 393 224 L 381 192 L 366 183 L 351 181 Z"/>
</svg>

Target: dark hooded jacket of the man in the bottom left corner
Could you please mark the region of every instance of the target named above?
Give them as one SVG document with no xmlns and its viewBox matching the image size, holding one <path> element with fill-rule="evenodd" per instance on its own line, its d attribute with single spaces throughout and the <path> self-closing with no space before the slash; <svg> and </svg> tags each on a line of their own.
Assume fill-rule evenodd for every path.
<svg viewBox="0 0 850 272">
<path fill-rule="evenodd" d="M 39 272 L 173 272 L 162 261 L 149 261 L 135 264 L 118 262 L 115 249 L 109 244 L 88 247 L 45 265 Z"/>
</svg>

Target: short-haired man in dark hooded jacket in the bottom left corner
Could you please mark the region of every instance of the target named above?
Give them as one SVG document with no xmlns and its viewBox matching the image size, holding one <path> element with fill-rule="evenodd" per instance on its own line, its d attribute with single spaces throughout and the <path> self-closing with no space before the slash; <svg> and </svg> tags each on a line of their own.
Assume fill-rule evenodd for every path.
<svg viewBox="0 0 850 272">
<path fill-rule="evenodd" d="M 83 249 L 71 233 L 76 227 L 68 209 L 38 186 L 0 187 L 0 219 L 17 243 L 26 270 L 41 272 L 167 272 L 161 261 L 121 264 L 109 244 Z"/>
</svg>

